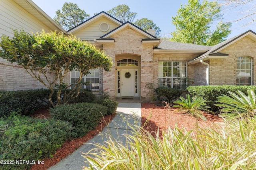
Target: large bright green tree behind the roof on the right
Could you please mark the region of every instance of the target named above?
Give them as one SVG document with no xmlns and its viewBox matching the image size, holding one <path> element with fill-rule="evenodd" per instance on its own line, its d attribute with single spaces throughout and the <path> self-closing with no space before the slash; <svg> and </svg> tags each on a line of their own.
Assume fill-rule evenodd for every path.
<svg viewBox="0 0 256 170">
<path fill-rule="evenodd" d="M 181 5 L 177 15 L 172 17 L 176 31 L 171 33 L 170 41 L 198 45 L 216 45 L 225 40 L 231 33 L 231 23 L 222 22 L 221 6 L 216 2 L 188 0 Z M 214 21 L 220 21 L 213 30 Z"/>
</svg>

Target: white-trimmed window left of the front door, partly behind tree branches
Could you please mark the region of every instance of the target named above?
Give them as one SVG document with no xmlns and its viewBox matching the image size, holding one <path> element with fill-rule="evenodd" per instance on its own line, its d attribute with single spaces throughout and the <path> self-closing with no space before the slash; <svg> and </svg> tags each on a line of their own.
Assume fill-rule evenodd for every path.
<svg viewBox="0 0 256 170">
<path fill-rule="evenodd" d="M 80 72 L 71 71 L 70 72 L 71 84 L 74 84 L 74 82 L 78 80 L 79 76 L 80 76 Z M 86 74 L 85 76 L 82 77 L 81 82 L 82 83 L 86 82 L 86 84 L 81 84 L 81 88 L 87 88 L 92 90 L 99 89 L 99 76 L 100 76 L 99 68 L 90 70 L 89 74 Z"/>
</svg>

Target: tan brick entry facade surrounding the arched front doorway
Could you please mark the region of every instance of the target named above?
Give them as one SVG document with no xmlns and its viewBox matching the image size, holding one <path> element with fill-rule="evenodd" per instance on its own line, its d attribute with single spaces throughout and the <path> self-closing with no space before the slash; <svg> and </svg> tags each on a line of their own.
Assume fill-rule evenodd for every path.
<svg viewBox="0 0 256 170">
<path fill-rule="evenodd" d="M 145 84 L 153 80 L 153 45 L 143 45 L 141 40 L 146 36 L 130 27 L 118 31 L 110 38 L 114 38 L 115 43 L 103 45 L 103 51 L 112 59 L 113 66 L 110 72 L 103 72 L 103 91 L 108 92 L 111 98 L 116 97 L 116 55 L 140 55 L 140 97 L 148 98 Z"/>
</svg>

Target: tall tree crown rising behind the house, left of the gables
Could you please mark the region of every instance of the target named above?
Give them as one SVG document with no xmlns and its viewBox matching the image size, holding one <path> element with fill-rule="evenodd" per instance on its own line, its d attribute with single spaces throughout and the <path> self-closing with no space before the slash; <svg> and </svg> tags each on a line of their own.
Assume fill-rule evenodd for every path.
<svg viewBox="0 0 256 170">
<path fill-rule="evenodd" d="M 87 20 L 89 17 L 90 15 L 86 14 L 84 10 L 81 10 L 77 4 L 65 2 L 62 10 L 56 11 L 56 16 L 53 20 L 63 29 L 68 30 Z"/>
</svg>

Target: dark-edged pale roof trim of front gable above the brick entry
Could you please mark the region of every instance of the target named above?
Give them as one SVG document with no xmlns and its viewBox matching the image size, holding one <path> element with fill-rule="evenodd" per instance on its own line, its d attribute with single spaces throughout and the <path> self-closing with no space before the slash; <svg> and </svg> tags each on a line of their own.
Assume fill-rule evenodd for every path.
<svg viewBox="0 0 256 170">
<path fill-rule="evenodd" d="M 145 35 L 147 38 L 149 39 L 157 39 L 157 37 L 151 35 L 150 33 L 144 31 L 143 29 L 141 29 L 140 27 L 137 27 L 136 25 L 134 25 L 133 23 L 130 23 L 129 21 L 127 21 L 126 23 L 120 25 L 119 27 L 117 27 L 116 29 L 113 29 L 112 31 L 106 33 L 105 35 L 103 35 L 101 38 L 109 38 L 111 37 L 113 34 L 121 31 L 122 29 L 125 29 L 126 27 L 131 27 L 132 29 L 134 29 L 135 31 L 137 31 L 138 33 Z"/>
</svg>

